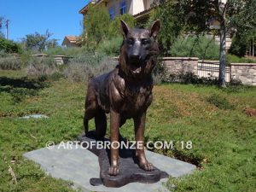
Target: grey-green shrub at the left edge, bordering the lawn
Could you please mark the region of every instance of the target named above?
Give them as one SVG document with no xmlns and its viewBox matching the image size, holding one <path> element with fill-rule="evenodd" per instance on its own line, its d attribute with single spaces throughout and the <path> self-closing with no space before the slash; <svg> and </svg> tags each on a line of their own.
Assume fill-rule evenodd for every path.
<svg viewBox="0 0 256 192">
<path fill-rule="evenodd" d="M 19 70 L 21 68 L 21 62 L 19 58 L 15 56 L 7 56 L 0 58 L 0 69 L 3 70 Z"/>
</svg>

